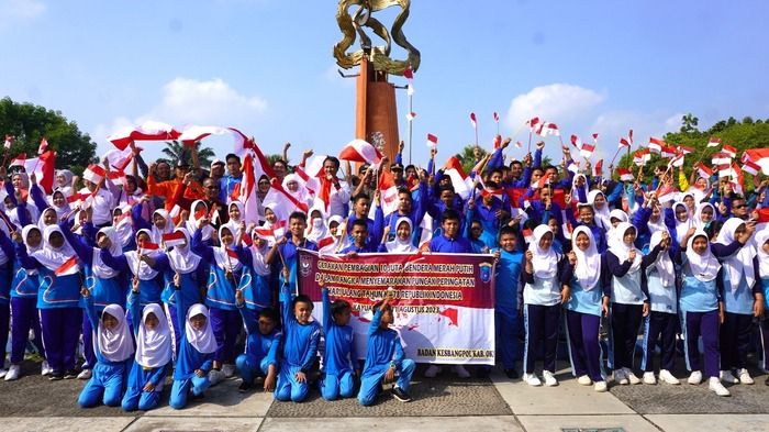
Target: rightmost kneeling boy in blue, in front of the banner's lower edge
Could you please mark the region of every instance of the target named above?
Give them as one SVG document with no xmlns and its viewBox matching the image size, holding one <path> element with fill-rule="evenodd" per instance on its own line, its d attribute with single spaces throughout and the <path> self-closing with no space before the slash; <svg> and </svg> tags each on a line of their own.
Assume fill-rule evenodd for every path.
<svg viewBox="0 0 769 432">
<path fill-rule="evenodd" d="M 392 388 L 392 396 L 401 402 L 411 401 L 408 391 L 416 364 L 405 358 L 400 335 L 390 329 L 393 320 L 391 299 L 392 291 L 388 291 L 388 296 L 372 308 L 374 318 L 368 326 L 366 365 L 358 392 L 358 402 L 363 406 L 372 405 L 380 386 L 395 380 L 395 373 L 398 373 L 398 381 Z"/>
</svg>

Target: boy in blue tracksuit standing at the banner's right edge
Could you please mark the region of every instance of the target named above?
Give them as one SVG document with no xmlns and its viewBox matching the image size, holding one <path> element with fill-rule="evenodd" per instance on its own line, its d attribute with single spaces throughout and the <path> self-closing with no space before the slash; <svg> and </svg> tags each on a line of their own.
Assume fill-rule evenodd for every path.
<svg viewBox="0 0 769 432">
<path fill-rule="evenodd" d="M 523 253 L 516 250 L 516 240 L 515 230 L 504 225 L 500 230 L 499 248 L 494 251 L 497 259 L 494 283 L 497 346 L 504 374 L 511 379 L 519 377 L 515 370 L 515 361 L 521 356 L 521 317 L 519 315 L 517 291 Z"/>
</svg>

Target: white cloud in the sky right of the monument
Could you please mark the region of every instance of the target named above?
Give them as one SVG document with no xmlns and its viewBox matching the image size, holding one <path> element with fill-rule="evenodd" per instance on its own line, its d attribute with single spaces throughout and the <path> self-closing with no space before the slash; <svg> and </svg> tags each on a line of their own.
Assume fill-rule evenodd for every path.
<svg viewBox="0 0 769 432">
<path fill-rule="evenodd" d="M 604 93 L 588 88 L 570 84 L 550 84 L 535 87 L 530 92 L 513 98 L 505 120 L 512 129 L 517 129 L 534 117 L 559 123 L 584 117 L 605 99 Z"/>
</svg>

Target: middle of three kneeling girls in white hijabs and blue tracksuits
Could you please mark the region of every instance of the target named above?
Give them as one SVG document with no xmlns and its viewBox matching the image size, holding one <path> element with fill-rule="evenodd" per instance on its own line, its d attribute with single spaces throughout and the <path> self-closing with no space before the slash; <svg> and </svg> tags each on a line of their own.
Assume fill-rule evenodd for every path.
<svg viewBox="0 0 769 432">
<path fill-rule="evenodd" d="M 153 303 L 144 308 L 142 319 L 134 323 L 134 334 L 136 355 L 121 405 L 124 411 L 148 411 L 160 401 L 172 357 L 171 331 L 160 306 Z"/>
</svg>

